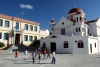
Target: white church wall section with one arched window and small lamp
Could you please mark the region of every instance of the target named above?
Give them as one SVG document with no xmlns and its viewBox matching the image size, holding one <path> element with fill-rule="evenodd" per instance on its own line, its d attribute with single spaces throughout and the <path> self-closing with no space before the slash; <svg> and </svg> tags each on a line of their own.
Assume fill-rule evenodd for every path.
<svg viewBox="0 0 100 67">
<path fill-rule="evenodd" d="M 84 48 L 78 48 L 78 41 L 82 40 Z M 77 43 L 75 43 L 77 41 Z M 88 38 L 87 36 L 73 36 L 73 54 L 88 54 Z"/>
</svg>

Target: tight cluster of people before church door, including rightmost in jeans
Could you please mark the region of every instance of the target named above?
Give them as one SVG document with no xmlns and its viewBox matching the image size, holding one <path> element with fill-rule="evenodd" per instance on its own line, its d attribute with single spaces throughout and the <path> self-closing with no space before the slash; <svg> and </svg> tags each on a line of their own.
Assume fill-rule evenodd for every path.
<svg viewBox="0 0 100 67">
<path fill-rule="evenodd" d="M 40 62 L 40 59 L 41 59 L 42 56 L 44 57 L 43 60 L 47 59 L 48 57 L 50 59 L 51 58 L 50 54 L 51 54 L 51 52 L 50 52 L 49 49 L 48 50 L 44 49 L 43 51 L 40 50 L 40 49 L 39 50 L 36 49 L 31 54 L 33 63 L 34 63 L 35 59 L 37 58 L 37 55 L 38 55 L 38 59 L 39 59 L 39 62 Z M 56 61 L 55 57 L 56 57 L 56 54 L 55 54 L 55 51 L 53 51 L 53 53 L 52 53 L 52 61 L 51 61 L 52 64 L 53 63 L 55 64 L 55 61 Z"/>
</svg>

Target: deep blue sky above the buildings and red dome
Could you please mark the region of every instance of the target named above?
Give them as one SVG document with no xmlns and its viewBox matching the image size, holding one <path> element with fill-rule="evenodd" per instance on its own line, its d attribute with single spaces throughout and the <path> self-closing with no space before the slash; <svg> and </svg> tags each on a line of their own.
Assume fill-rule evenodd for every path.
<svg viewBox="0 0 100 67">
<path fill-rule="evenodd" d="M 49 29 L 52 18 L 58 22 L 67 17 L 75 5 L 85 12 L 87 20 L 100 16 L 100 0 L 0 0 L 0 13 L 36 21 L 42 29 Z"/>
</svg>

